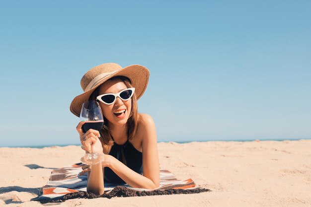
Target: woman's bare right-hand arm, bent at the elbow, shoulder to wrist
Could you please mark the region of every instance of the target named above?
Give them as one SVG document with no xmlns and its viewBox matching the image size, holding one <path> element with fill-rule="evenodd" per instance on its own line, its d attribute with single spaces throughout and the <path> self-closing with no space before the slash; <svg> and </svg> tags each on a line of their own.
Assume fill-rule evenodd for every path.
<svg viewBox="0 0 311 207">
<path fill-rule="evenodd" d="M 143 174 L 141 175 L 113 157 L 110 168 L 134 188 L 155 189 L 159 187 L 159 161 L 156 142 L 156 126 L 150 115 L 142 114 L 138 133 L 141 133 L 143 149 Z"/>
</svg>

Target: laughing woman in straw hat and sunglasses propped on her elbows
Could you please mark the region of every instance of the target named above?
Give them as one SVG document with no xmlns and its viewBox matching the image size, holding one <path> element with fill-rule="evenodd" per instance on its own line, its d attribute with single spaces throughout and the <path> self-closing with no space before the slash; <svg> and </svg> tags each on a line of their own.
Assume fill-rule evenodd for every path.
<svg viewBox="0 0 311 207">
<path fill-rule="evenodd" d="M 96 100 L 104 116 L 100 131 L 83 133 L 83 122 L 77 126 L 86 153 L 93 145 L 94 152 L 104 154 L 102 163 L 82 166 L 80 175 L 87 172 L 88 192 L 103 194 L 104 182 L 146 189 L 159 186 L 155 123 L 137 109 L 137 100 L 148 81 L 149 70 L 139 65 L 122 68 L 114 63 L 102 64 L 83 75 L 80 83 L 84 93 L 72 101 L 71 112 L 79 117 L 82 103 Z"/>
</svg>

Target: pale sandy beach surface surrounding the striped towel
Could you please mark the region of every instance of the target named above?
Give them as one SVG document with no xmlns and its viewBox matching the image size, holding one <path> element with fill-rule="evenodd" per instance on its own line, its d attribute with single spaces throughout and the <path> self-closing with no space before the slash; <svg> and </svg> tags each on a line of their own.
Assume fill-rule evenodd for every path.
<svg viewBox="0 0 311 207">
<path fill-rule="evenodd" d="M 200 194 L 30 201 L 53 168 L 78 163 L 79 146 L 0 148 L 0 206 L 311 207 L 311 140 L 159 142 L 160 167 L 192 178 Z M 35 169 L 36 168 L 36 169 Z"/>
</svg>

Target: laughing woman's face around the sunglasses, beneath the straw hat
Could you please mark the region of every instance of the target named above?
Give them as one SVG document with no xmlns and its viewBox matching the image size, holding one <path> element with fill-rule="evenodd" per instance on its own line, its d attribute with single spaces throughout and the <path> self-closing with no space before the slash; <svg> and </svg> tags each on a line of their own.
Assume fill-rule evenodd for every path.
<svg viewBox="0 0 311 207">
<path fill-rule="evenodd" d="M 121 80 L 107 80 L 99 86 L 99 94 L 102 95 L 105 93 L 118 93 L 123 89 L 126 89 L 127 86 Z M 123 126 L 127 123 L 129 119 L 131 108 L 132 108 L 132 98 L 127 101 L 123 101 L 120 97 L 117 97 L 113 104 L 107 105 L 99 101 L 102 113 L 104 117 L 114 126 Z M 126 110 L 124 117 L 117 117 L 114 112 L 119 110 Z M 109 123 L 109 124 L 110 124 Z"/>
</svg>

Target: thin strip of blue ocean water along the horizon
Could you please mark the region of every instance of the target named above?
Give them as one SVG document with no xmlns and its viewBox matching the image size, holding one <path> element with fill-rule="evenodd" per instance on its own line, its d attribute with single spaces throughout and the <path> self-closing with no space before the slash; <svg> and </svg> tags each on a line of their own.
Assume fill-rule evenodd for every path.
<svg viewBox="0 0 311 207">
<path fill-rule="evenodd" d="M 260 141 L 283 141 L 283 140 L 300 140 L 300 139 L 306 139 L 306 138 L 286 138 L 286 139 L 258 139 Z M 308 138 L 311 139 L 311 138 Z M 158 142 L 176 142 L 176 143 L 189 143 L 193 141 L 197 142 L 206 142 L 206 141 L 255 141 L 257 139 L 209 139 L 209 140 L 188 140 L 188 141 L 176 141 L 176 140 L 167 140 L 167 141 L 158 141 Z M 30 148 L 44 148 L 44 147 L 50 147 L 50 146 L 69 146 L 69 145 L 75 145 L 75 146 L 81 146 L 81 144 L 73 143 L 73 144 L 52 144 L 52 145 L 29 145 L 29 146 L 0 146 L 0 147 L 30 147 Z"/>
</svg>

